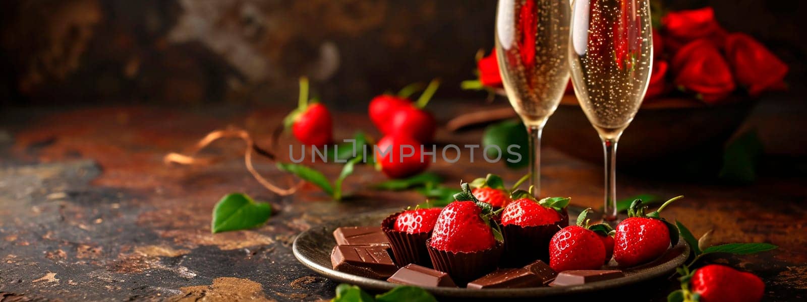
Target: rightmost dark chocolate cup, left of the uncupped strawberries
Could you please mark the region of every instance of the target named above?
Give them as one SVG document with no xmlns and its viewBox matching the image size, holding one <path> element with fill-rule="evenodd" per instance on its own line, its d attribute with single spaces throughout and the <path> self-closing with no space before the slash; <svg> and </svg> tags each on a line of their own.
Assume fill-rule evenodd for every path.
<svg viewBox="0 0 807 302">
<path fill-rule="evenodd" d="M 566 208 L 563 208 L 560 216 L 560 221 L 551 225 L 501 225 L 504 237 L 501 266 L 524 267 L 538 259 L 550 263 L 550 239 L 569 225 L 569 213 Z"/>
</svg>

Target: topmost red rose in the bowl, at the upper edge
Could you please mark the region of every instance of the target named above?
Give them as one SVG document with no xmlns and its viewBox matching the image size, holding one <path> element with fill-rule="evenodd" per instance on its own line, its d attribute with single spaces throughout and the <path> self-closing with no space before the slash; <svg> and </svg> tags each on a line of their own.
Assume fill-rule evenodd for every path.
<svg viewBox="0 0 807 302">
<path fill-rule="evenodd" d="M 667 32 L 667 46 L 674 51 L 701 38 L 712 39 L 717 45 L 722 45 L 725 37 L 725 30 L 714 19 L 711 7 L 671 11 L 664 16 L 662 23 Z"/>
</svg>

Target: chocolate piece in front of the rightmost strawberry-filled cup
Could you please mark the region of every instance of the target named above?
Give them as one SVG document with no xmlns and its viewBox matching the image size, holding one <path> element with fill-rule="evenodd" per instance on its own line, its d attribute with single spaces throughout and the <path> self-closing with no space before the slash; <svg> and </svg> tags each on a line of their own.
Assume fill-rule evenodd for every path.
<svg viewBox="0 0 807 302">
<path fill-rule="evenodd" d="M 483 275 L 468 283 L 467 288 L 535 288 L 554 279 L 557 273 L 546 263 L 537 260 L 522 268 L 505 268 Z"/>
</svg>

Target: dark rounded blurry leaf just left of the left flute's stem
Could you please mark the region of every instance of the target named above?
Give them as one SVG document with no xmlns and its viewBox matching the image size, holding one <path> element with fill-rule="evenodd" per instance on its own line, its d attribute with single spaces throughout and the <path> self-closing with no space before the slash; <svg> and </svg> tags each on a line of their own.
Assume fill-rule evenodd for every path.
<svg viewBox="0 0 807 302">
<path fill-rule="evenodd" d="M 508 152 L 508 147 L 513 147 Z M 507 120 L 487 126 L 482 137 L 482 147 L 498 146 L 502 152 L 501 161 L 508 168 L 524 168 L 529 164 L 529 134 L 527 128 L 519 120 Z M 514 153 L 515 155 L 511 154 Z M 495 159 L 499 157 L 499 151 L 495 148 L 487 148 L 487 158 Z M 508 161 L 508 159 L 510 159 Z M 516 161 L 511 163 L 510 161 Z"/>
</svg>

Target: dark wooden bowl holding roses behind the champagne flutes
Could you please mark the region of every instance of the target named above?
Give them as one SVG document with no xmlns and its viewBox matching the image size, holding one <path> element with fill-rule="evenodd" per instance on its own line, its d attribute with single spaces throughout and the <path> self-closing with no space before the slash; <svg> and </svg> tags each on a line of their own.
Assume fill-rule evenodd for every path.
<svg viewBox="0 0 807 302">
<path fill-rule="evenodd" d="M 664 98 L 642 104 L 617 146 L 617 169 L 646 163 L 679 163 L 715 154 L 745 121 L 755 101 L 736 99 L 705 105 L 691 98 Z M 574 95 L 564 96 L 543 133 L 546 147 L 592 163 L 603 163 L 603 147 Z"/>
</svg>

